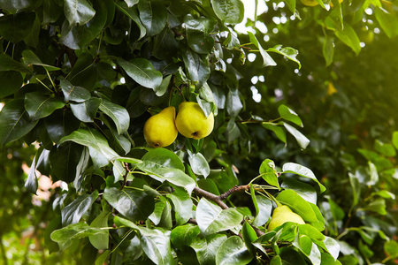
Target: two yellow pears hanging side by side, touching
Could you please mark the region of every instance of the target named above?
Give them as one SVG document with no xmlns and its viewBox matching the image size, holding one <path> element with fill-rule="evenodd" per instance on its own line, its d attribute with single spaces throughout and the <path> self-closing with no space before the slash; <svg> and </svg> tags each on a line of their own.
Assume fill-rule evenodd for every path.
<svg viewBox="0 0 398 265">
<path fill-rule="evenodd" d="M 208 136 L 214 127 L 214 115 L 208 117 L 196 102 L 182 102 L 175 117 L 174 107 L 167 107 L 149 117 L 144 125 L 145 140 L 152 148 L 163 148 L 172 144 L 178 133 L 195 140 Z"/>
</svg>

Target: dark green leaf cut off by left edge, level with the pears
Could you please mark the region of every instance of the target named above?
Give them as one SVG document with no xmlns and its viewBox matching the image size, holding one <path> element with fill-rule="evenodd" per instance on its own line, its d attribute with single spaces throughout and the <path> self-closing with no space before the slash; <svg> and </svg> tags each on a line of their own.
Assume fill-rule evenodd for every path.
<svg viewBox="0 0 398 265">
<path fill-rule="evenodd" d="M 32 120 L 24 109 L 23 100 L 12 100 L 4 105 L 0 112 L 0 146 L 13 140 L 19 140 L 29 133 L 38 120 Z"/>
</svg>

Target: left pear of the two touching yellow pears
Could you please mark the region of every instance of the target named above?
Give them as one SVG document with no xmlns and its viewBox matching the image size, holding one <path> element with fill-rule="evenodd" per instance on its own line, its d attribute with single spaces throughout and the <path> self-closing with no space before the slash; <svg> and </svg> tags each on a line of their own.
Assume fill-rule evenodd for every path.
<svg viewBox="0 0 398 265">
<path fill-rule="evenodd" d="M 152 148 L 170 146 L 178 135 L 175 127 L 174 107 L 167 107 L 156 115 L 149 117 L 144 125 L 143 133 L 145 140 Z"/>
</svg>

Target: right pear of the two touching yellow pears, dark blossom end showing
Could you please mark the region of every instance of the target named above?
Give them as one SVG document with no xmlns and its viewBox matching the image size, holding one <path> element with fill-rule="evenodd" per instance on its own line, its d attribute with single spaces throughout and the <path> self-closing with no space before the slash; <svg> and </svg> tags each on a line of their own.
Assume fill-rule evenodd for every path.
<svg viewBox="0 0 398 265">
<path fill-rule="evenodd" d="M 206 118 L 203 110 L 196 102 L 182 102 L 175 119 L 179 132 L 195 140 L 208 136 L 214 127 L 214 115 L 211 112 Z"/>
</svg>

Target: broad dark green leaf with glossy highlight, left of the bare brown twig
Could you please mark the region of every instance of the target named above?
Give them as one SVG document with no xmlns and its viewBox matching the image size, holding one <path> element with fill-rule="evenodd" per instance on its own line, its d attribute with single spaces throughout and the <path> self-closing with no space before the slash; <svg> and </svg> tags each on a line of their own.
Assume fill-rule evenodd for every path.
<svg viewBox="0 0 398 265">
<path fill-rule="evenodd" d="M 132 189 L 105 188 L 103 198 L 120 214 L 136 222 L 145 220 L 154 210 L 155 201 L 147 193 Z"/>
</svg>

